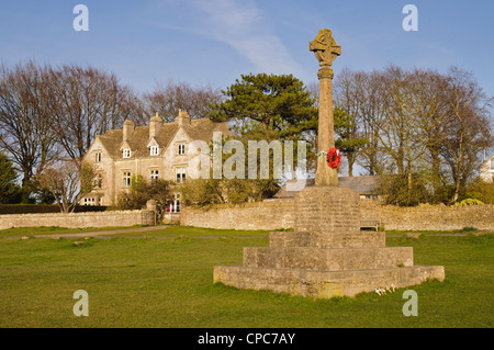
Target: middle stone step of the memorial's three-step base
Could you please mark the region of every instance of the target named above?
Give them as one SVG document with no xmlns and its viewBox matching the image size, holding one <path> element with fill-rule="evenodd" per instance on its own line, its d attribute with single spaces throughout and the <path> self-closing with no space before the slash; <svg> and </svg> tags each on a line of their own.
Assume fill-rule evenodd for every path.
<svg viewBox="0 0 494 350">
<path fill-rule="evenodd" d="M 414 252 L 412 247 L 244 248 L 244 266 L 251 268 L 339 271 L 413 267 L 413 264 Z"/>
</svg>

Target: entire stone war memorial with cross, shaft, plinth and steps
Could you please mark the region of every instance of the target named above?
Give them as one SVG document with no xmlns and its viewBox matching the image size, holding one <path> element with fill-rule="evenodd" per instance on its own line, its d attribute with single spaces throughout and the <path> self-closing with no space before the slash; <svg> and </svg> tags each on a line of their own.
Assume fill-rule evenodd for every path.
<svg viewBox="0 0 494 350">
<path fill-rule="evenodd" d="M 215 267 L 214 282 L 329 298 L 442 281 L 444 267 L 415 266 L 413 248 L 386 247 L 384 232 L 360 230 L 359 195 L 338 187 L 337 169 L 325 157 L 335 147 L 330 66 L 341 47 L 325 29 L 310 50 L 321 67 L 315 185 L 295 195 L 293 232 L 270 233 L 269 247 L 244 248 L 244 264 Z"/>
</svg>

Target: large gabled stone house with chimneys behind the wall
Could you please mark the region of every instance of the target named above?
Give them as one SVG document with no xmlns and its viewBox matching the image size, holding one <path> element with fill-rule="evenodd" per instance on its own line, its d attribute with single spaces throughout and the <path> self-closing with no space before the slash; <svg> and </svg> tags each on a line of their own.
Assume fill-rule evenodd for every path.
<svg viewBox="0 0 494 350">
<path fill-rule="evenodd" d="M 119 193 L 130 190 L 131 180 L 136 174 L 149 181 L 158 178 L 178 183 L 186 181 L 189 162 L 199 153 L 190 149 L 191 143 L 210 143 L 214 132 L 232 135 L 227 123 L 191 120 L 187 112 L 179 111 L 173 123 L 164 123 L 156 114 L 148 126 L 135 126 L 127 120 L 121 129 L 97 136 L 83 158 L 93 166 L 94 189 L 80 204 L 116 204 Z M 179 212 L 180 194 L 173 195 L 169 211 Z"/>
</svg>

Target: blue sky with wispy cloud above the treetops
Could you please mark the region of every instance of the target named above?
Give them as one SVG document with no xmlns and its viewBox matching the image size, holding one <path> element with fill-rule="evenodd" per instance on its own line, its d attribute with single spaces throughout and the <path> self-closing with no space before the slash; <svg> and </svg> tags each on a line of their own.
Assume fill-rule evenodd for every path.
<svg viewBox="0 0 494 350">
<path fill-rule="evenodd" d="M 76 4 L 89 9 L 89 31 L 76 32 Z M 405 32 L 405 4 L 418 9 L 418 31 Z M 333 68 L 458 66 L 494 95 L 494 1 L 5 1 L 0 7 L 0 59 L 92 65 L 138 92 L 169 79 L 226 88 L 242 74 L 293 74 L 317 81 L 308 42 L 333 31 L 341 56 Z"/>
</svg>

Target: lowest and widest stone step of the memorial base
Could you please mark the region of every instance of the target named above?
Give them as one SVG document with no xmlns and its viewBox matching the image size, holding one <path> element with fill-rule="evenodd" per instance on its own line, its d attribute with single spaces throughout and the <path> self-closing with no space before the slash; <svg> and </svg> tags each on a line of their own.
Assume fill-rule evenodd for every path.
<svg viewBox="0 0 494 350">
<path fill-rule="evenodd" d="M 355 296 L 378 287 L 406 287 L 426 280 L 445 280 L 445 268 L 408 268 L 316 271 L 302 269 L 261 269 L 243 266 L 215 267 L 214 282 L 237 289 L 269 290 L 318 298 Z"/>
</svg>

